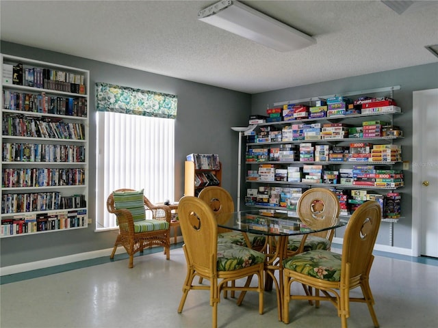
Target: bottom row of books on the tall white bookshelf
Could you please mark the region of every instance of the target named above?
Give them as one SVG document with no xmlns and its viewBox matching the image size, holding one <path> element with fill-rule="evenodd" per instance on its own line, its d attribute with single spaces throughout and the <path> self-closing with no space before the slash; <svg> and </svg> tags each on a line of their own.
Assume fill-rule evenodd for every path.
<svg viewBox="0 0 438 328">
<path fill-rule="evenodd" d="M 87 210 L 62 210 L 54 213 L 29 213 L 1 219 L 1 236 L 31 234 L 87 226 Z"/>
</svg>

